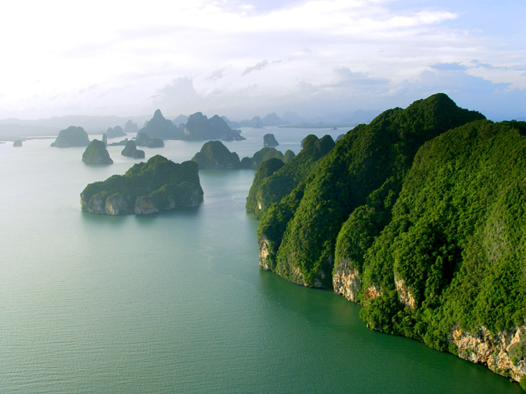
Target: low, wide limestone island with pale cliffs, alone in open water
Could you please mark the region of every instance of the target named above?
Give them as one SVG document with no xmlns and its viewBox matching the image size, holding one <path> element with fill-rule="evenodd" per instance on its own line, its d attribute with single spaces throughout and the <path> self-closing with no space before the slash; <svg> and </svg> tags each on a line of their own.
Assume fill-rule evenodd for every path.
<svg viewBox="0 0 526 394">
<path fill-rule="evenodd" d="M 124 175 L 88 184 L 80 194 L 83 212 L 106 215 L 153 214 L 203 201 L 199 168 L 193 161 L 174 163 L 155 155 Z"/>
</svg>

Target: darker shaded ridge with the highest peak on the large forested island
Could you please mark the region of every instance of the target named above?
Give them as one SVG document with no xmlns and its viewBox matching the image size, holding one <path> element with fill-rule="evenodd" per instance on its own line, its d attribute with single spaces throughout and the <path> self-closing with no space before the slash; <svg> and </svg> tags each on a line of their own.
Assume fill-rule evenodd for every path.
<svg viewBox="0 0 526 394">
<path fill-rule="evenodd" d="M 484 116 L 458 108 L 447 95 L 438 94 L 407 109 L 390 109 L 369 125 L 355 127 L 320 160 L 315 171 L 307 167 L 307 174 L 302 174 L 305 181 L 294 184 L 299 185 L 295 197 L 288 196 L 286 203 L 272 210 L 280 212 L 263 216 L 259 244 L 272 261 L 261 265 L 295 283 L 332 287 L 334 247 L 349 215 L 367 205 L 372 225 L 381 230 L 419 146 L 451 127 L 480 118 Z M 301 160 L 300 153 L 277 173 L 295 173 L 291 165 L 302 168 L 297 165 Z M 265 204 L 269 196 L 275 196 L 270 202 L 279 201 L 292 190 L 285 189 L 284 182 L 271 183 L 274 178 L 276 175 L 259 188 L 257 199 L 263 208 L 270 205 Z M 280 219 L 279 229 L 268 231 L 265 227 L 276 222 L 270 216 L 280 216 L 286 223 Z"/>
</svg>

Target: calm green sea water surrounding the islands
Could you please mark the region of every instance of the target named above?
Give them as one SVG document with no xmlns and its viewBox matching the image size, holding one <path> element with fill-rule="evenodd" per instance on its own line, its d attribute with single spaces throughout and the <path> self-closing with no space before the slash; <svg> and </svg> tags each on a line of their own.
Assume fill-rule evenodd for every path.
<svg viewBox="0 0 526 394">
<path fill-rule="evenodd" d="M 267 132 L 297 153 L 307 134 L 343 130 L 246 128 L 225 145 L 252 156 Z M 255 171 L 201 171 L 196 209 L 97 216 L 80 192 L 138 161 L 114 146 L 115 164 L 87 166 L 84 148 L 52 141 L 0 144 L 0 393 L 523 392 L 258 269 Z M 146 159 L 184 161 L 203 144 L 165 143 Z"/>
</svg>

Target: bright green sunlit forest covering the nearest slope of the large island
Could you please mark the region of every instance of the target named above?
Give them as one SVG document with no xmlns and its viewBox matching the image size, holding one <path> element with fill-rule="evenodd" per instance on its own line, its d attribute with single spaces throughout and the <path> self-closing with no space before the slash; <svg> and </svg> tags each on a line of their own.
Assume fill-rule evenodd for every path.
<svg viewBox="0 0 526 394">
<path fill-rule="evenodd" d="M 384 294 L 359 296 L 373 328 L 445 349 L 454 325 L 525 323 L 524 133 L 526 123 L 480 120 L 422 146 L 391 221 L 364 253 L 362 287 Z M 397 291 L 408 296 L 387 306 Z"/>
</svg>

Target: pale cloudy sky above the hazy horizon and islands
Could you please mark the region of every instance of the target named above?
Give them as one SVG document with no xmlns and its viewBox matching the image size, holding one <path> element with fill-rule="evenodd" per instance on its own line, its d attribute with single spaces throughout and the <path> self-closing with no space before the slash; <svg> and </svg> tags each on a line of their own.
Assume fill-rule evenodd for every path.
<svg viewBox="0 0 526 394">
<path fill-rule="evenodd" d="M 9 1 L 0 118 L 316 118 L 434 93 L 526 117 L 525 0 Z M 337 115 L 335 115 L 337 116 Z"/>
</svg>

